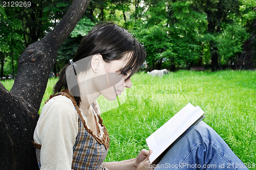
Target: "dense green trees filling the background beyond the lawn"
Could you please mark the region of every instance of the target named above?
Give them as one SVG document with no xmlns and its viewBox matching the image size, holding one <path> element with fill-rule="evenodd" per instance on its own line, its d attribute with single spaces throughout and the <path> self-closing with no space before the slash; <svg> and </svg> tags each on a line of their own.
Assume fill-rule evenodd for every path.
<svg viewBox="0 0 256 170">
<path fill-rule="evenodd" d="M 44 37 L 71 3 L 33 0 L 32 8 L 0 7 L 0 51 L 5 53 L 0 58 L 20 54 L 24 46 Z M 232 64 L 244 50 L 248 33 L 255 35 L 254 9 L 252 0 L 93 0 L 60 47 L 57 61 L 63 65 L 72 58 L 77 43 L 94 25 L 112 21 L 144 45 L 150 68 L 176 70 L 210 65 L 213 54 L 219 55 L 221 64 Z"/>
</svg>

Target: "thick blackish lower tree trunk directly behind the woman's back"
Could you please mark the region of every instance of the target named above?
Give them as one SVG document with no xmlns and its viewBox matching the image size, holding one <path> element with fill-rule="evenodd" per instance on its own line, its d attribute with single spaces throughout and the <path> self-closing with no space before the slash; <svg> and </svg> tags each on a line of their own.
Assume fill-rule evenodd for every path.
<svg viewBox="0 0 256 170">
<path fill-rule="evenodd" d="M 38 169 L 31 143 L 37 111 L 0 83 L 0 113 L 1 169 Z"/>
</svg>

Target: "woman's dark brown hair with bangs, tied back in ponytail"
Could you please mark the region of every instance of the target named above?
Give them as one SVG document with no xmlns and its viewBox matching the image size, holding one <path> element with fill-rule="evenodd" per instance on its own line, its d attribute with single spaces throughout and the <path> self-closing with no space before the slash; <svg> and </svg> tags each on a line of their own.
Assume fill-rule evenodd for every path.
<svg viewBox="0 0 256 170">
<path fill-rule="evenodd" d="M 100 54 L 105 62 L 111 62 L 122 59 L 123 55 L 127 52 L 131 52 L 130 60 L 124 67 L 118 70 L 120 72 L 131 70 L 131 75 L 126 80 L 132 77 L 143 64 L 146 57 L 143 46 L 125 29 L 114 23 L 103 23 L 95 26 L 91 32 L 83 37 L 73 62 L 95 54 Z M 68 88 L 66 69 L 69 65 L 70 63 L 60 71 L 59 80 L 54 86 L 54 94 Z M 86 66 L 84 69 L 87 69 Z M 74 98 L 79 106 L 80 97 Z"/>
</svg>

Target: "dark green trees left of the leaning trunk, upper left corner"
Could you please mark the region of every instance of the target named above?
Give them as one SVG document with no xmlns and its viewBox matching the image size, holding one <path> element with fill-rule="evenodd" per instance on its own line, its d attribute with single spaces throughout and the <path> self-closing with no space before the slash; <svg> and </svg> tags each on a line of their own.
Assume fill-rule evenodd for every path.
<svg viewBox="0 0 256 170">
<path fill-rule="evenodd" d="M 5 74 L 11 74 L 14 71 L 10 67 L 14 65 L 16 69 L 14 69 L 15 73 L 12 73 L 13 77 L 17 70 L 18 56 L 24 52 L 25 46 L 27 47 L 29 44 L 40 40 L 52 31 L 71 5 L 70 1 L 59 0 L 30 2 L 31 6 L 29 8 L 5 8 L 2 6 L 3 4 L 0 6 L 0 11 L 2 11 L 0 12 L 2 13 L 0 17 L 3 20 L 0 24 L 4 28 L 3 30 L 1 29 L 3 32 L 2 37 L 4 38 L 2 42 L 9 44 L 10 50 L 15 50 L 15 52 L 5 55 L 7 61 L 14 59 L 14 62 L 6 63 L 4 70 Z M 10 34 L 10 32 L 13 34 Z M 13 43 L 8 42 L 6 37 L 12 39 Z M 10 44 L 15 46 L 10 46 Z"/>
</svg>

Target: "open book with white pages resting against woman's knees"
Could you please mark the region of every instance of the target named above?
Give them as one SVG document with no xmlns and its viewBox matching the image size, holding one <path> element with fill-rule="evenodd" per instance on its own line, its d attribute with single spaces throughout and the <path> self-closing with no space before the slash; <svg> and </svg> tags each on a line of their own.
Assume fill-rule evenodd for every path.
<svg viewBox="0 0 256 170">
<path fill-rule="evenodd" d="M 147 146 L 153 150 L 153 153 L 150 155 L 150 162 L 157 164 L 170 144 L 190 126 L 198 124 L 204 117 L 204 111 L 200 107 L 195 107 L 188 103 L 157 131 L 147 137 Z"/>
</svg>

